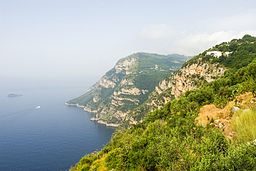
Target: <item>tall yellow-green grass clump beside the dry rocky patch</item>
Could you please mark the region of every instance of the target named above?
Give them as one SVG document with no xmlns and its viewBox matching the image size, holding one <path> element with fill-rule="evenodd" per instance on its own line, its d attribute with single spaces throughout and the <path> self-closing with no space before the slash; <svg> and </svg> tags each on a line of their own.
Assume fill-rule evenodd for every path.
<svg viewBox="0 0 256 171">
<path fill-rule="evenodd" d="M 241 143 L 256 139 L 256 111 L 243 110 L 237 113 L 232 128 L 236 132 L 236 139 Z"/>
</svg>

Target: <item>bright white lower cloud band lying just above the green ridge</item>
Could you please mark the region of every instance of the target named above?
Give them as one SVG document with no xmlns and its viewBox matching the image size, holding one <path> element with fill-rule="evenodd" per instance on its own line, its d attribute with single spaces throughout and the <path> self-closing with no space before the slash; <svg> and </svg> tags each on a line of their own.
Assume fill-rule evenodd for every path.
<svg viewBox="0 0 256 171">
<path fill-rule="evenodd" d="M 224 41 L 228 42 L 232 39 L 241 39 L 245 34 L 256 36 L 256 30 L 247 30 L 242 32 L 222 30 L 212 34 L 192 34 L 179 41 L 175 50 L 179 54 L 195 55 Z M 169 51 L 174 50 L 170 49 Z"/>
</svg>

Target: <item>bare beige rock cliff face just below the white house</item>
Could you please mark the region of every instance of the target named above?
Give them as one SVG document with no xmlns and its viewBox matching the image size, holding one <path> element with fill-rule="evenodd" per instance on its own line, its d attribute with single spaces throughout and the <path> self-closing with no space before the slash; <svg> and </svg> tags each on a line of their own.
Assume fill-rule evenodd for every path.
<svg viewBox="0 0 256 171">
<path fill-rule="evenodd" d="M 170 74 L 170 77 L 160 81 L 149 95 L 149 99 L 130 112 L 130 124 L 143 121 L 147 112 L 163 107 L 168 101 L 179 99 L 186 90 L 200 88 L 203 84 L 222 77 L 226 70 L 227 68 L 219 63 L 202 61 L 202 58 L 183 66 L 174 74 Z"/>
</svg>

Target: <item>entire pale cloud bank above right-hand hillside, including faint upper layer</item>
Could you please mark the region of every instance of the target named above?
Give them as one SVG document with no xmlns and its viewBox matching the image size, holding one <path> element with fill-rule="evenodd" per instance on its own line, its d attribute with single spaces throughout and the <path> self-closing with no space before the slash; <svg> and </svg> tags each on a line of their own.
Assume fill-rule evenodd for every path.
<svg viewBox="0 0 256 171">
<path fill-rule="evenodd" d="M 199 54 L 212 46 L 223 41 L 241 39 L 245 34 L 256 36 L 256 10 L 237 12 L 236 15 L 211 19 L 205 21 L 198 32 L 206 30 L 204 33 L 193 34 L 189 32 L 181 33 L 178 43 L 169 49 L 169 52 L 180 54 Z"/>
</svg>

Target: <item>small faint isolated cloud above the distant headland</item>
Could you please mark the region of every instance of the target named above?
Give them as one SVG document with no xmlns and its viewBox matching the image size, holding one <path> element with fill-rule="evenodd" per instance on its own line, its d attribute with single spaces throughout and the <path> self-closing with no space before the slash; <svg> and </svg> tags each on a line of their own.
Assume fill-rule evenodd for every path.
<svg viewBox="0 0 256 171">
<path fill-rule="evenodd" d="M 156 24 L 143 28 L 140 37 L 143 39 L 165 39 L 174 35 L 174 30 L 170 26 L 164 24 Z"/>
</svg>

